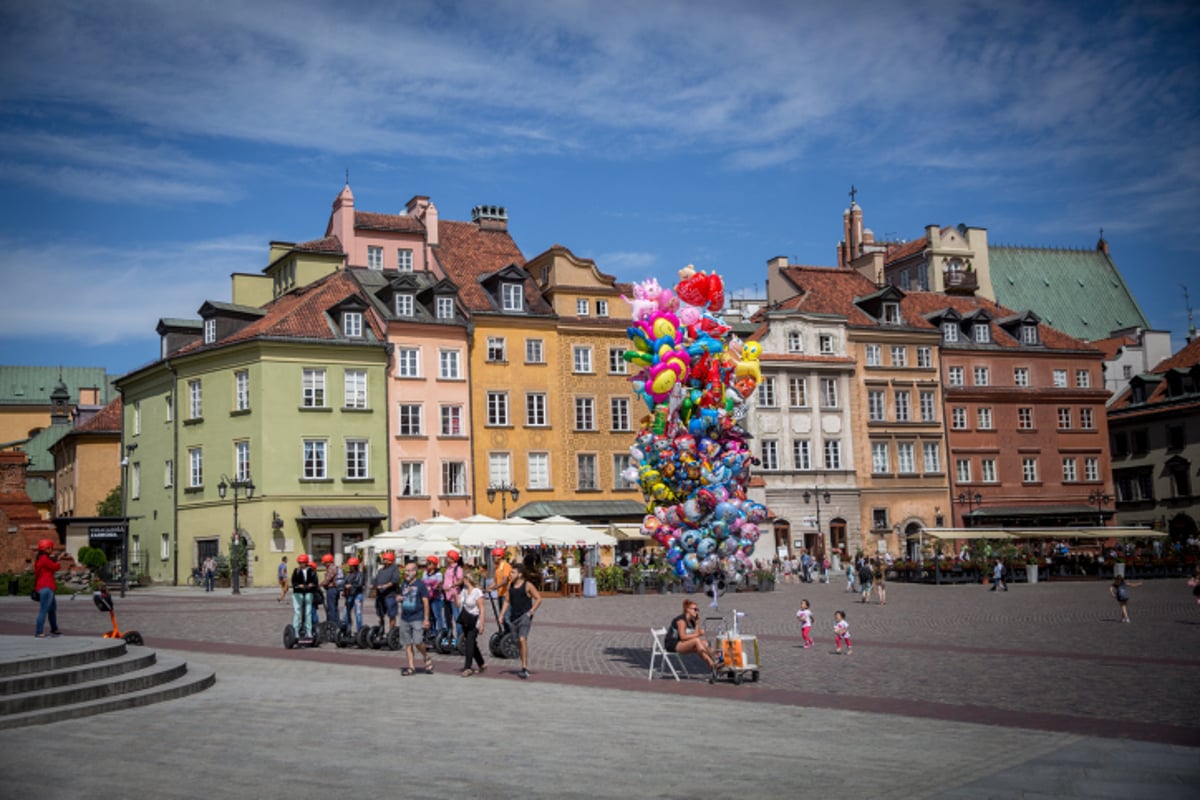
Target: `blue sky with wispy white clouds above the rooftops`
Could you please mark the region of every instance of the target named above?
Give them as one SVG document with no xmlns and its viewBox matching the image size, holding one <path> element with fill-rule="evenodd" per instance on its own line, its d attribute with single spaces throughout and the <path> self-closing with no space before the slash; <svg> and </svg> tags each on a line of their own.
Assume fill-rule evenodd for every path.
<svg viewBox="0 0 1200 800">
<path fill-rule="evenodd" d="M 0 363 L 157 357 L 271 241 L 432 198 L 622 281 L 761 296 L 876 237 L 1099 231 L 1153 327 L 1200 309 L 1200 5 L 490 0 L 0 6 Z"/>
</svg>

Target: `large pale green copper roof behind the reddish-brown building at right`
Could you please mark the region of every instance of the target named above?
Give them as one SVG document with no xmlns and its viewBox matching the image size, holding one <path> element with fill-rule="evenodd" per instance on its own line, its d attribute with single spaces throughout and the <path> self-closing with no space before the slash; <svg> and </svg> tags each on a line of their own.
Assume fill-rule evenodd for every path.
<svg viewBox="0 0 1200 800">
<path fill-rule="evenodd" d="M 996 302 L 1032 311 L 1081 339 L 1122 327 L 1150 327 L 1112 259 L 1098 249 L 988 247 Z"/>
</svg>

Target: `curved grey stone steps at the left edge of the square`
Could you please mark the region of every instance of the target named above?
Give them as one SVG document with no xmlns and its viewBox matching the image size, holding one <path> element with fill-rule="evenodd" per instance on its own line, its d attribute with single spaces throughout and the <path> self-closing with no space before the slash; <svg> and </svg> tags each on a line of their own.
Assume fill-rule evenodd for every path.
<svg viewBox="0 0 1200 800">
<path fill-rule="evenodd" d="M 0 729 L 161 703 L 215 681 L 209 667 L 122 639 L 0 637 Z"/>
</svg>

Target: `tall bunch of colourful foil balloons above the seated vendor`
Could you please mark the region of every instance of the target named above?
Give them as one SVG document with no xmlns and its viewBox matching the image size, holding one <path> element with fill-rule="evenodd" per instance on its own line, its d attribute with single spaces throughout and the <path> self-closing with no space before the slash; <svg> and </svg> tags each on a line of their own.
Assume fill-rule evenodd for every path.
<svg viewBox="0 0 1200 800">
<path fill-rule="evenodd" d="M 646 495 L 642 533 L 666 548 L 679 577 L 725 577 L 752 567 L 766 506 L 746 498 L 757 463 L 739 425 L 762 379 L 757 342 L 743 343 L 718 315 L 725 283 L 691 265 L 674 289 L 650 278 L 624 297 L 634 309 L 634 391 L 649 414 L 624 477 Z"/>
</svg>

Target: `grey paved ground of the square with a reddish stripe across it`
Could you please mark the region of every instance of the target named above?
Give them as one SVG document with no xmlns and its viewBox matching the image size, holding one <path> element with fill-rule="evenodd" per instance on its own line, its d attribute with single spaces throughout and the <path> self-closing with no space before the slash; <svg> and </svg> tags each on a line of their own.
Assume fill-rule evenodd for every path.
<svg viewBox="0 0 1200 800">
<path fill-rule="evenodd" d="M 802 596 L 817 619 L 809 650 Z M 696 595 L 702 616 L 737 608 L 758 636 L 761 681 L 733 686 L 647 680 L 648 627 L 678 613 L 677 595 L 547 599 L 522 681 L 502 660 L 463 679 L 457 658 L 437 656 L 438 674 L 401 678 L 396 652 L 286 651 L 290 608 L 270 589 L 138 589 L 116 600 L 122 630 L 216 668 L 216 686 L 2 734 L 0 794 L 85 796 L 136 774 L 164 798 L 208 796 L 214 783 L 254 798 L 391 786 L 481 798 L 1195 798 L 1200 606 L 1183 581 L 1132 596 L 1126 625 L 1094 582 L 893 583 L 887 606 L 841 583 L 781 584 L 726 595 L 719 612 Z M 838 608 L 851 656 L 832 654 Z M 0 599 L 0 633 L 35 642 L 35 613 Z M 68 636 L 108 621 L 86 596 L 60 599 L 59 618 Z M 54 764 L 86 763 L 97 782 L 47 784 L 47 742 Z"/>
</svg>

